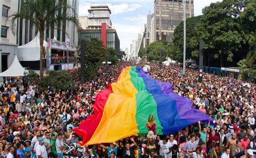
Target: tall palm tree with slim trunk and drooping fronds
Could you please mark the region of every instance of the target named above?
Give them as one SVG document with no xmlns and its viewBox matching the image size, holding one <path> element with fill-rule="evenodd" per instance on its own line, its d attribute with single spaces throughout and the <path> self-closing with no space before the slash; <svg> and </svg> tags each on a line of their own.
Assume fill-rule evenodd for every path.
<svg viewBox="0 0 256 158">
<path fill-rule="evenodd" d="M 66 13 L 62 11 L 65 10 Z M 47 26 L 57 26 L 57 24 L 62 21 L 62 23 L 74 23 L 78 26 L 78 19 L 75 9 L 72 8 L 66 1 L 60 2 L 59 0 L 26 0 L 21 5 L 21 10 L 19 12 L 13 13 L 8 19 L 11 19 L 10 28 L 12 33 L 16 32 L 16 20 L 18 18 L 27 19 L 35 25 L 36 30 L 39 32 L 40 38 L 40 80 L 43 78 L 44 72 L 44 61 L 45 49 L 43 48 L 44 41 L 44 31 Z"/>
</svg>

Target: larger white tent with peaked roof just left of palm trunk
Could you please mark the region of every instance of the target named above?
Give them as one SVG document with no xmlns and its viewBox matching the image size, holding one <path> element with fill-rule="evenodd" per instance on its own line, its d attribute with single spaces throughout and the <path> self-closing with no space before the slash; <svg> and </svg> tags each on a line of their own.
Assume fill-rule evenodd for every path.
<svg viewBox="0 0 256 158">
<path fill-rule="evenodd" d="M 44 40 L 44 47 L 46 49 L 48 43 Z M 17 53 L 19 61 L 38 61 L 40 60 L 40 39 L 39 33 L 28 44 L 18 46 Z"/>
</svg>

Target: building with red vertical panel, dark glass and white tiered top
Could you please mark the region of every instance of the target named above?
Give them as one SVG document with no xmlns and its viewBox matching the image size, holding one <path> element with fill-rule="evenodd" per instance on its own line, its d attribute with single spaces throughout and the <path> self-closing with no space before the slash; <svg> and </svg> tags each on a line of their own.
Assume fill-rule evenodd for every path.
<svg viewBox="0 0 256 158">
<path fill-rule="evenodd" d="M 97 38 L 103 41 L 106 48 L 113 48 L 117 55 L 120 54 L 120 40 L 117 31 L 112 29 L 110 19 L 111 10 L 109 6 L 91 6 L 88 10 L 87 21 L 85 17 L 79 17 L 79 22 L 83 30 L 80 30 L 80 39 L 91 40 Z M 87 24 L 86 24 L 87 23 Z M 122 56 L 118 56 L 122 58 Z"/>
</svg>

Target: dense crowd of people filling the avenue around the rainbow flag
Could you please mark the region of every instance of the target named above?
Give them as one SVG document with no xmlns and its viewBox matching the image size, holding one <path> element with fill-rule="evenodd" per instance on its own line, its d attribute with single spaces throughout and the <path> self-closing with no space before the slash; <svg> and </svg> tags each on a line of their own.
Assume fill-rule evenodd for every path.
<svg viewBox="0 0 256 158">
<path fill-rule="evenodd" d="M 81 146 L 72 130 L 93 114 L 100 90 L 115 82 L 126 66 L 149 64 L 152 78 L 170 82 L 172 90 L 192 100 L 193 107 L 215 126 L 195 123 L 169 135 L 140 135 L 110 144 Z M 254 157 L 255 84 L 198 72 L 177 64 L 119 62 L 99 69 L 92 81 L 76 81 L 69 89 L 39 92 L 35 82 L 5 80 L 0 92 L 0 157 Z M 183 76 L 183 77 L 182 77 Z"/>
</svg>

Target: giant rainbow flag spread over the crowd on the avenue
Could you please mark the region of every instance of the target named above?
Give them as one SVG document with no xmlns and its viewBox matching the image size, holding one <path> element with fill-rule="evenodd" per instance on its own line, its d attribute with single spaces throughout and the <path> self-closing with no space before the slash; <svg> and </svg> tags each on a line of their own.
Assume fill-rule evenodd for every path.
<svg viewBox="0 0 256 158">
<path fill-rule="evenodd" d="M 83 144 L 110 143 L 131 135 L 147 134 L 147 119 L 154 115 L 158 134 L 170 134 L 197 123 L 208 122 L 193 102 L 177 95 L 170 83 L 150 78 L 142 68 L 126 67 L 116 83 L 96 96 L 95 114 L 74 129 Z"/>
</svg>

